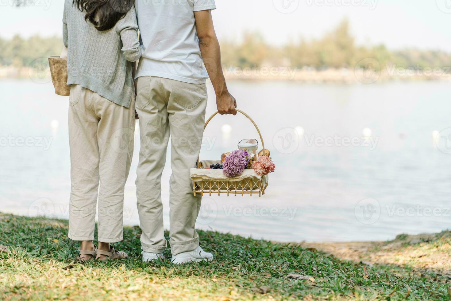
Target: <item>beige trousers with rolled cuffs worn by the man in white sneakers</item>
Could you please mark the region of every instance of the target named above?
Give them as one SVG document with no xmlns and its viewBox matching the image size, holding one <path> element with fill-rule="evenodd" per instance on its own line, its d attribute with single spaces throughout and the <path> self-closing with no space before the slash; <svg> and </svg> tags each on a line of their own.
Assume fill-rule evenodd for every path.
<svg viewBox="0 0 451 301">
<path fill-rule="evenodd" d="M 163 233 L 161 173 L 171 139 L 170 246 L 173 255 L 198 247 L 194 225 L 201 196 L 193 196 L 189 169 L 196 166 L 202 145 L 207 89 L 205 84 L 183 83 L 159 77 L 138 78 L 136 111 L 139 116 L 139 152 L 136 192 L 145 252 L 161 253 Z"/>
</svg>

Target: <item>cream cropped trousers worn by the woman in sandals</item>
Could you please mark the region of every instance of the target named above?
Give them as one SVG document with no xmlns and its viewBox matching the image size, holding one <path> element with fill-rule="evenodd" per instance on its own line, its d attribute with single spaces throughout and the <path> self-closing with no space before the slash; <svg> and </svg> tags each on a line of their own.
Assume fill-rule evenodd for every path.
<svg viewBox="0 0 451 301">
<path fill-rule="evenodd" d="M 134 100 L 127 109 L 73 85 L 69 102 L 69 238 L 94 239 L 98 198 L 98 240 L 121 241 L 124 185 L 133 156 Z"/>
</svg>

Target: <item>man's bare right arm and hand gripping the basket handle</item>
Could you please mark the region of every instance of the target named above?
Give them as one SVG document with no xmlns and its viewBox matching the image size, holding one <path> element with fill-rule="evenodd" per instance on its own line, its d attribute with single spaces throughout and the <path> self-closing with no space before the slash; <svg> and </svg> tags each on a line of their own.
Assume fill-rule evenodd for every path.
<svg viewBox="0 0 451 301">
<path fill-rule="evenodd" d="M 218 111 L 221 115 L 236 115 L 236 100 L 229 93 L 222 72 L 221 49 L 213 27 L 212 12 L 210 10 L 195 11 L 194 17 L 202 60 L 215 89 Z"/>
</svg>

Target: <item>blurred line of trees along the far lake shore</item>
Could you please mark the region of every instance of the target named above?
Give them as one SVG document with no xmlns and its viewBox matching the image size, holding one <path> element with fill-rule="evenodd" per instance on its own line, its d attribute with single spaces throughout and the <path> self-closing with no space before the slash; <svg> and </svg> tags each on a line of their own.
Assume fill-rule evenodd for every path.
<svg viewBox="0 0 451 301">
<path fill-rule="evenodd" d="M 61 47 L 61 37 L 0 38 L 0 65 L 29 66 L 38 58 L 59 55 Z M 347 20 L 318 40 L 299 38 L 284 46 L 272 46 L 260 33 L 246 32 L 242 42 L 222 41 L 221 50 L 223 64 L 240 68 L 268 65 L 308 66 L 316 69 L 354 68 L 359 61 L 367 58 L 377 60 L 378 66 L 373 66 L 376 69 L 387 65 L 414 69 L 451 67 L 451 54 L 442 51 L 390 51 L 384 45 L 358 46 L 350 34 Z"/>
</svg>

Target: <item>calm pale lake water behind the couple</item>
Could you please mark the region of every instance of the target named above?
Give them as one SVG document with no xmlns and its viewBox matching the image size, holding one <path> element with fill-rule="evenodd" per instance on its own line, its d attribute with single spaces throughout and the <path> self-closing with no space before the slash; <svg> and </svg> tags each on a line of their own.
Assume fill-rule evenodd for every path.
<svg viewBox="0 0 451 301">
<path fill-rule="evenodd" d="M 277 241 L 371 241 L 451 227 L 449 83 L 229 86 L 259 126 L 276 172 L 260 198 L 204 197 L 198 228 Z M 0 80 L 0 91 L 0 211 L 67 218 L 68 98 L 55 95 L 50 82 L 26 79 Z M 216 107 L 211 86 L 208 94 L 207 116 Z M 224 124 L 230 132 L 221 130 Z M 205 137 L 201 159 L 217 159 L 241 139 L 260 140 L 244 116 L 215 117 Z M 136 139 L 127 225 L 138 224 L 138 149 Z"/>
</svg>

